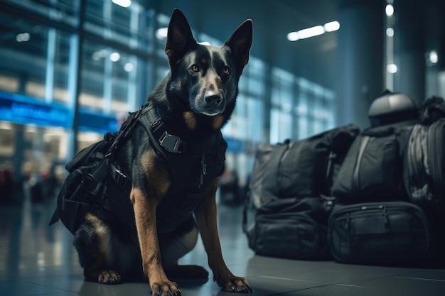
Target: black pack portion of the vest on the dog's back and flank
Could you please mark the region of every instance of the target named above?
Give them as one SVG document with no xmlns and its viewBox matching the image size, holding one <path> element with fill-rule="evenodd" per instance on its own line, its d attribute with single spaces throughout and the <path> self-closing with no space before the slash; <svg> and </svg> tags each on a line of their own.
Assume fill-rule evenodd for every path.
<svg viewBox="0 0 445 296">
<path fill-rule="evenodd" d="M 133 207 L 126 198 L 132 183 L 114 165 L 113 156 L 119 144 L 129 137 L 142 109 L 129 115 L 119 133 L 105 133 L 102 141 L 80 150 L 65 166 L 70 174 L 58 194 L 50 225 L 60 219 L 75 234 L 81 223 L 82 209 L 99 206 L 135 228 Z"/>
</svg>

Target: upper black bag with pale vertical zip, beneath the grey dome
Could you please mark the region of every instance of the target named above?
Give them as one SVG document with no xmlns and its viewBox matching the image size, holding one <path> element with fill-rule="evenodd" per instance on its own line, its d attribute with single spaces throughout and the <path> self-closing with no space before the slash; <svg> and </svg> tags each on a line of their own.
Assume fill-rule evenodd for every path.
<svg viewBox="0 0 445 296">
<path fill-rule="evenodd" d="M 355 138 L 333 182 L 338 202 L 407 200 L 402 163 L 413 126 L 377 126 Z"/>
</svg>

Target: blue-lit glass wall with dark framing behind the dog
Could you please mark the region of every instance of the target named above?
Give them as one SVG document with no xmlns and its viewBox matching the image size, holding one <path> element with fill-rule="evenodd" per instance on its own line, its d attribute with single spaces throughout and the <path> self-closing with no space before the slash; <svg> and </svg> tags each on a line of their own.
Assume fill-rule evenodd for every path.
<svg viewBox="0 0 445 296">
<path fill-rule="evenodd" d="M 80 0 L 3 3 L 0 168 L 11 166 L 16 180 L 60 165 L 63 171 L 75 153 L 71 147 L 80 150 L 117 131 L 168 72 L 170 16 L 137 1 L 129 7 L 85 1 L 83 11 Z M 206 32 L 193 33 L 200 43 L 223 43 Z M 239 87 L 223 134 L 227 170 L 237 173 L 240 185 L 259 143 L 306 138 L 335 122 L 334 92 L 257 57 L 250 57 Z"/>
</svg>

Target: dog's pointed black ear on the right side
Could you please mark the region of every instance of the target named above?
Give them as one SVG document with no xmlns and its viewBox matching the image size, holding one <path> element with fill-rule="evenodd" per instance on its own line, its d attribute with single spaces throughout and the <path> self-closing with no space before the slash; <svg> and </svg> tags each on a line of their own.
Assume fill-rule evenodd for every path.
<svg viewBox="0 0 445 296">
<path fill-rule="evenodd" d="M 247 20 L 239 26 L 232 36 L 225 42 L 232 50 L 232 55 L 235 57 L 237 67 L 240 70 L 249 62 L 250 47 L 252 46 L 253 38 L 253 24 L 252 20 Z"/>
</svg>

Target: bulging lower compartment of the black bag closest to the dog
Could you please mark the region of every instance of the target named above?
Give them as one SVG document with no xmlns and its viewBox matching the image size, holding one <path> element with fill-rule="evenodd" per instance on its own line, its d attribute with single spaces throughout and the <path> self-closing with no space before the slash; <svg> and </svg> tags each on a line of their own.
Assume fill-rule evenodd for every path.
<svg viewBox="0 0 445 296">
<path fill-rule="evenodd" d="M 247 231 L 257 255 L 293 259 L 331 258 L 327 241 L 328 208 L 323 199 L 274 199 L 258 209 Z"/>
</svg>

